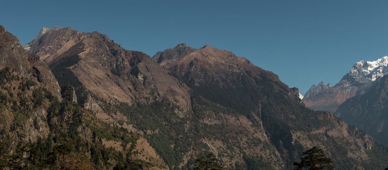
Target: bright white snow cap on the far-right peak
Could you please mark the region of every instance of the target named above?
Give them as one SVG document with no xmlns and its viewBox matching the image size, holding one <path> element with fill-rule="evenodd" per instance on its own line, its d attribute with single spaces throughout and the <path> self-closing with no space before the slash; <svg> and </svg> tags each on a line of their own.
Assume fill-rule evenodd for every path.
<svg viewBox="0 0 388 170">
<path fill-rule="evenodd" d="M 384 56 L 376 61 L 361 60 L 353 65 L 350 74 L 375 81 L 377 78 L 388 74 L 388 56 Z"/>
</svg>

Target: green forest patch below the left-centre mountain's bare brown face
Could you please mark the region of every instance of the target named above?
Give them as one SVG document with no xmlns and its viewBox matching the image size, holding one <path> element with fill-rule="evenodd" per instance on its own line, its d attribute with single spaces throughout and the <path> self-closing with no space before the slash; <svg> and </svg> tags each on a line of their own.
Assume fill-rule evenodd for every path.
<svg viewBox="0 0 388 170">
<path fill-rule="evenodd" d="M 116 105 L 117 111 L 128 118 L 129 124 L 136 125 L 142 131 L 157 132 L 146 135 L 146 138 L 170 168 L 180 164 L 183 153 L 189 151 L 187 146 L 192 143 L 190 136 L 184 132 L 185 119 L 178 119 L 173 112 L 175 108 L 177 108 L 175 105 L 168 102 L 134 106 L 127 103 Z M 115 112 L 109 109 L 106 111 Z M 171 136 L 171 133 L 179 136 Z M 171 147 L 173 145 L 174 148 Z"/>
</svg>

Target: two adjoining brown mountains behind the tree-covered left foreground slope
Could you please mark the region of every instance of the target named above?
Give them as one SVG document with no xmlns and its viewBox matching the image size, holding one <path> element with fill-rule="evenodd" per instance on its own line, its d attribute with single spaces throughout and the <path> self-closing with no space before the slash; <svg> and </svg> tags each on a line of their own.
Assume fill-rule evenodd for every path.
<svg viewBox="0 0 388 170">
<path fill-rule="evenodd" d="M 230 169 L 292 169 L 312 146 L 324 148 L 338 169 L 388 162 L 386 148 L 369 135 L 306 108 L 297 88 L 230 51 L 205 46 L 182 52 L 178 45 L 159 65 L 98 32 L 64 28 L 36 39 L 29 52 L 50 66 L 63 98 L 89 115 L 85 126 L 103 124 L 93 129 L 101 140 L 91 143 L 134 153 L 129 162 L 141 160 L 137 165 L 191 169 L 196 157 L 211 152 Z M 110 136 L 112 127 L 130 132 L 128 138 Z M 129 139 L 137 141 L 135 150 L 124 147 L 135 143 Z M 119 165 L 117 157 L 109 159 L 114 163 L 106 168 Z"/>
</svg>

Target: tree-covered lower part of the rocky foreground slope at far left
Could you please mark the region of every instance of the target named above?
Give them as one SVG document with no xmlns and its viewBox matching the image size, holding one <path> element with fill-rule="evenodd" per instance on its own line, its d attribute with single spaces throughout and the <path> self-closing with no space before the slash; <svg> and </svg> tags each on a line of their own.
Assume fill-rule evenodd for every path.
<svg viewBox="0 0 388 170">
<path fill-rule="evenodd" d="M 33 80 L 13 77 L 9 69 L 2 69 L 0 76 L 5 82 L 0 88 L 0 169 L 141 170 L 153 166 L 131 158 L 139 136 L 96 119 L 82 105 L 59 101 Z M 40 133 L 30 133 L 30 123 Z M 107 148 L 102 139 L 120 141 L 123 150 Z M 90 159 L 85 159 L 88 155 Z"/>
</svg>

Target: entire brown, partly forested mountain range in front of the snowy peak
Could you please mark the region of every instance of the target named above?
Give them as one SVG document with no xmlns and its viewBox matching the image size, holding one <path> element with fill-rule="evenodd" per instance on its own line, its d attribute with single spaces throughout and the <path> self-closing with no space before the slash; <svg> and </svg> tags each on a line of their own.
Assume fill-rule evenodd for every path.
<svg viewBox="0 0 388 170">
<path fill-rule="evenodd" d="M 99 32 L 55 27 L 21 46 L 0 26 L 0 69 L 5 169 L 186 170 L 214 153 L 227 169 L 282 170 L 313 146 L 336 169 L 388 164 L 386 146 L 307 108 L 312 92 L 303 103 L 273 72 L 208 45 L 150 57 Z"/>
</svg>

